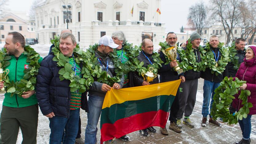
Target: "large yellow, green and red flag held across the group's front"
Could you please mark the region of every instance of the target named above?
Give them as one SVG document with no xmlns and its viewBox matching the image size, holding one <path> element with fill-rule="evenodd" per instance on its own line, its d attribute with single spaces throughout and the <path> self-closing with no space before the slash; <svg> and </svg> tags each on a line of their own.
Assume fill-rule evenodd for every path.
<svg viewBox="0 0 256 144">
<path fill-rule="evenodd" d="M 181 80 L 111 89 L 101 112 L 101 143 L 150 126 L 164 128 Z"/>
</svg>

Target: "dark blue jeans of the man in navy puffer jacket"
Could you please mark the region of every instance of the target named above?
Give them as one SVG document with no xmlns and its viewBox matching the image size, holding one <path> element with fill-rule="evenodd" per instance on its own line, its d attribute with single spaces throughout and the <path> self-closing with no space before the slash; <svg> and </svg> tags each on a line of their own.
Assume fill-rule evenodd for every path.
<svg viewBox="0 0 256 144">
<path fill-rule="evenodd" d="M 70 110 L 70 117 L 64 118 L 61 116 L 55 116 L 49 118 L 50 120 L 50 144 L 60 144 L 62 140 L 63 131 L 65 128 L 65 134 L 63 138 L 63 144 L 75 143 L 75 139 L 78 132 L 80 108 L 77 110 Z"/>
</svg>

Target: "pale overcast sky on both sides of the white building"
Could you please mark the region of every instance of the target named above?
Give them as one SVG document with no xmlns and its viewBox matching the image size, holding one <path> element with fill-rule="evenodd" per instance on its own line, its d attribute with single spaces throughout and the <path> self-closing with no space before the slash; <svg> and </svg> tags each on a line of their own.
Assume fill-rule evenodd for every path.
<svg viewBox="0 0 256 144">
<path fill-rule="evenodd" d="M 209 0 L 204 0 L 207 2 Z M 33 0 L 9 0 L 8 8 L 15 11 L 29 12 Z M 198 0 L 162 0 L 161 21 L 166 23 L 166 32 L 180 32 L 181 26 L 187 23 L 189 7 Z"/>
</svg>

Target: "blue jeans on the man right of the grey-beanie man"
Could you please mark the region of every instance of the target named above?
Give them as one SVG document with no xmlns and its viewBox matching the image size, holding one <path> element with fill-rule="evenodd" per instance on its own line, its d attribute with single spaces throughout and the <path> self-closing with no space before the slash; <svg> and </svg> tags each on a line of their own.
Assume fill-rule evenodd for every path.
<svg viewBox="0 0 256 144">
<path fill-rule="evenodd" d="M 203 90 L 204 90 L 204 100 L 203 100 L 203 106 L 202 106 L 202 115 L 203 117 L 207 117 L 207 115 L 209 114 L 209 104 L 210 104 L 210 100 L 211 100 L 211 104 L 210 104 L 210 109 L 212 108 L 212 103 L 213 103 L 213 95 L 214 90 L 220 85 L 219 82 L 211 82 L 211 81 L 207 81 L 204 80 L 204 86 L 203 86 Z M 211 118 L 211 115 L 210 115 Z"/>
</svg>

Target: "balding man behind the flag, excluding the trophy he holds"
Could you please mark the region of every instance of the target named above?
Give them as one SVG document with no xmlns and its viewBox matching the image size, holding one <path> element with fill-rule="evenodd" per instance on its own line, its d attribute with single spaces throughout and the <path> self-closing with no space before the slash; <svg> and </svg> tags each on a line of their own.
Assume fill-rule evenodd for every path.
<svg viewBox="0 0 256 144">
<path fill-rule="evenodd" d="M 144 62 L 143 66 L 146 68 L 149 64 L 154 63 L 154 60 L 152 58 L 153 50 L 154 50 L 153 42 L 148 38 L 144 39 L 142 41 L 142 51 L 140 52 L 137 58 L 140 62 Z M 138 72 L 134 72 L 133 82 L 134 82 L 134 86 L 146 86 L 150 84 L 159 83 L 159 80 L 158 80 L 158 77 L 156 77 L 153 79 L 152 82 L 147 82 L 144 80 L 142 76 L 139 76 Z M 156 132 L 153 126 L 149 127 L 148 130 L 150 130 L 153 133 Z M 147 129 L 139 130 L 139 131 L 143 136 L 149 137 Z"/>
</svg>

